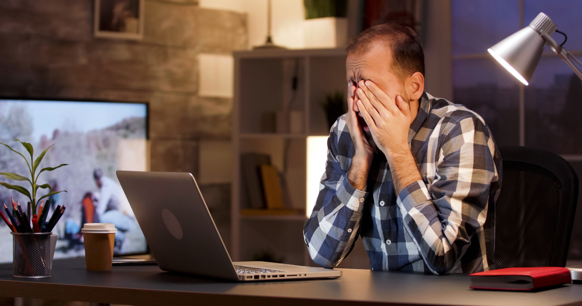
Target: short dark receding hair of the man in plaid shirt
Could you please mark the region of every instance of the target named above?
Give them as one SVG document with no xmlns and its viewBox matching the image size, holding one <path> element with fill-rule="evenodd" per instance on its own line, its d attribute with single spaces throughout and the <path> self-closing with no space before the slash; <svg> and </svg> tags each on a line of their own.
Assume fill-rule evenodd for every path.
<svg viewBox="0 0 582 306">
<path fill-rule="evenodd" d="M 418 35 L 410 27 L 395 23 L 378 24 L 368 28 L 347 44 L 347 52 L 367 52 L 375 45 L 389 45 L 392 50 L 392 68 L 403 80 L 414 72 L 424 76 L 424 51 Z"/>
</svg>

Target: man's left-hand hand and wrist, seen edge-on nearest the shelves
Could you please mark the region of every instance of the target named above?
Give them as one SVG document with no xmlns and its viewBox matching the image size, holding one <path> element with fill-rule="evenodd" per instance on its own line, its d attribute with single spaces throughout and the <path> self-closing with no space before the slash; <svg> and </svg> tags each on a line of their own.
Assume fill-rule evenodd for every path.
<svg viewBox="0 0 582 306">
<path fill-rule="evenodd" d="M 350 166 L 350 170 L 347 173 L 347 179 L 354 188 L 363 190 L 368 180 L 368 173 L 370 172 L 370 165 L 372 164 L 372 157 L 374 156 L 374 147 L 368 143 L 358 121 L 356 114 L 357 107 L 354 103 L 355 93 L 356 86 L 350 86 L 350 99 L 347 100 L 346 124 L 350 131 L 350 136 L 352 136 L 352 142 L 356 152 L 352 157 L 352 166 Z"/>
</svg>

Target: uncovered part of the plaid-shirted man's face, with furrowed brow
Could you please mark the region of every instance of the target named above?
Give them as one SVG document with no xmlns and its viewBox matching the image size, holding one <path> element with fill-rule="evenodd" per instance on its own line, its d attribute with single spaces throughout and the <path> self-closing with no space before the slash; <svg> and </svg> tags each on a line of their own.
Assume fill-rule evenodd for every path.
<svg viewBox="0 0 582 306">
<path fill-rule="evenodd" d="M 402 82 L 393 72 L 392 50 L 388 46 L 377 44 L 365 52 L 350 52 L 346 59 L 346 74 L 348 88 L 352 85 L 358 87 L 360 80 L 371 80 L 392 99 L 400 95 L 404 101 L 409 101 L 409 96 L 404 90 Z M 348 92 L 348 94 L 352 93 Z M 357 97 L 354 98 L 354 101 L 357 100 Z M 366 138 L 371 141 L 370 143 L 373 143 L 370 128 L 365 123 L 360 111 L 357 110 L 357 105 L 354 104 L 354 108 Z"/>
</svg>

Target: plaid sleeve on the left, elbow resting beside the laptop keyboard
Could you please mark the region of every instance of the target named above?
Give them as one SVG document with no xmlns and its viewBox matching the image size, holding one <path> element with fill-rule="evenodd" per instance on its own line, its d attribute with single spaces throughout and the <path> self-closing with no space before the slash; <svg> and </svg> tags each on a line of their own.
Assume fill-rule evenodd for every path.
<svg viewBox="0 0 582 306">
<path fill-rule="evenodd" d="M 303 237 L 311 259 L 324 268 L 334 268 L 352 250 L 358 237 L 360 219 L 368 192 L 356 189 L 347 178 L 353 153 L 340 154 L 339 145 L 350 147 L 349 132 L 332 126 L 328 138 L 325 173 L 315 207 L 303 228 Z M 345 143 L 349 141 L 349 143 Z M 340 160 L 342 162 L 340 163 Z"/>
</svg>

